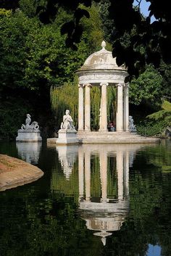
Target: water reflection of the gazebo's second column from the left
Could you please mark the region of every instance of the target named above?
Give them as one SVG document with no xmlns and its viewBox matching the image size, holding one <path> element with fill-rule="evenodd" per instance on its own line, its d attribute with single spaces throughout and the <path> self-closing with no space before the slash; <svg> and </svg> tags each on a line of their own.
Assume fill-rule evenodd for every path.
<svg viewBox="0 0 171 256">
<path fill-rule="evenodd" d="M 85 186 L 86 186 L 86 201 L 91 199 L 91 154 L 85 152 Z"/>
</svg>

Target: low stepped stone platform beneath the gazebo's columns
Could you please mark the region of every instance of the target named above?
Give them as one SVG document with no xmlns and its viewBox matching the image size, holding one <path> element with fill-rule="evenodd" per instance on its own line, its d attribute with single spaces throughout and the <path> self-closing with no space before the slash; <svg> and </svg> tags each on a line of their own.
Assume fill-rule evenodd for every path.
<svg viewBox="0 0 171 256">
<path fill-rule="evenodd" d="M 80 144 L 148 144 L 161 141 L 158 138 L 143 137 L 130 132 L 78 131 Z"/>
</svg>

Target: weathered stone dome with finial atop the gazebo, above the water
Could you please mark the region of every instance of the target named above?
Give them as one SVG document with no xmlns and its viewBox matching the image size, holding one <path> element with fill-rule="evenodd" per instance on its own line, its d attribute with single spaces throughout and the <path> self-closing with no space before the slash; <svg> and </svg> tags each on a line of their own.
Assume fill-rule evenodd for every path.
<svg viewBox="0 0 171 256">
<path fill-rule="evenodd" d="M 118 67 L 116 58 L 112 57 L 112 51 L 105 49 L 106 43 L 101 43 L 102 49 L 95 51 L 84 62 L 79 70 L 125 70 L 124 65 Z"/>
</svg>

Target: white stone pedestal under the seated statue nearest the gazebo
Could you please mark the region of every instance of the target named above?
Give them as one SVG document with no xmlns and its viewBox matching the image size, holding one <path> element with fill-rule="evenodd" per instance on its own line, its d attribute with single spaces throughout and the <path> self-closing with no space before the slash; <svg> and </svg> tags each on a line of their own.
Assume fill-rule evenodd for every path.
<svg viewBox="0 0 171 256">
<path fill-rule="evenodd" d="M 78 144 L 78 137 L 76 130 L 59 130 L 57 144 Z"/>
</svg>

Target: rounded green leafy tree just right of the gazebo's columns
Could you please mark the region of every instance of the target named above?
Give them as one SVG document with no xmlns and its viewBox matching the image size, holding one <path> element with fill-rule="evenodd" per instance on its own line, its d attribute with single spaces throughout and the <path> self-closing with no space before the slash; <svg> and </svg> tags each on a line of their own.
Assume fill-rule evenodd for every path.
<svg viewBox="0 0 171 256">
<path fill-rule="evenodd" d="M 141 104 L 149 102 L 156 107 L 162 103 L 162 75 L 153 66 L 146 67 L 146 71 L 130 83 L 130 103 Z"/>
</svg>

